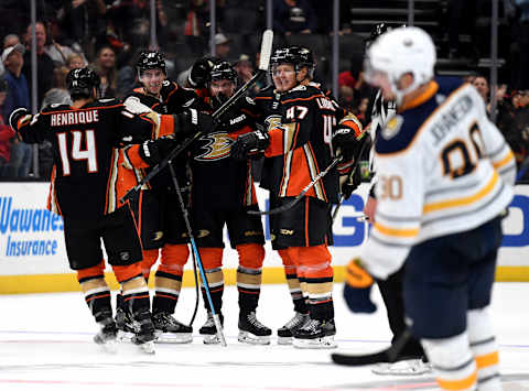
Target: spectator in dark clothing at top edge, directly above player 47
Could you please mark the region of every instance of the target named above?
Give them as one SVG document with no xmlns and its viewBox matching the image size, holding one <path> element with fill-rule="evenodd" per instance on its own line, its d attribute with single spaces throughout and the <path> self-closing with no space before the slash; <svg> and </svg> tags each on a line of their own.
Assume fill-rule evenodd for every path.
<svg viewBox="0 0 529 391">
<path fill-rule="evenodd" d="M 273 30 L 285 34 L 310 34 L 317 20 L 307 0 L 273 0 Z"/>
</svg>

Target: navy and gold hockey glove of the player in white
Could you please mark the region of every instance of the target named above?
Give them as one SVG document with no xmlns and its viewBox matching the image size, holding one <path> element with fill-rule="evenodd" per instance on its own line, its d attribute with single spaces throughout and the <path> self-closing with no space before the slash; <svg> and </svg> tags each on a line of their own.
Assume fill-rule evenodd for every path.
<svg viewBox="0 0 529 391">
<path fill-rule="evenodd" d="M 373 278 L 361 265 L 359 258 L 353 259 L 346 269 L 344 298 L 354 313 L 371 314 L 377 306 L 371 302 Z"/>
</svg>

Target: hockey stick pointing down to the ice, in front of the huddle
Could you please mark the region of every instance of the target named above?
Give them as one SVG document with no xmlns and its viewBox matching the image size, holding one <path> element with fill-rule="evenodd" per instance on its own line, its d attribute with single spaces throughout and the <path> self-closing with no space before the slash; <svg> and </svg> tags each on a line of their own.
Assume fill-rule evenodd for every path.
<svg viewBox="0 0 529 391">
<path fill-rule="evenodd" d="M 206 292 L 207 303 L 209 304 L 209 309 L 212 309 L 213 321 L 215 322 L 215 327 L 217 329 L 217 337 L 220 340 L 220 345 L 226 345 L 226 338 L 224 337 L 223 325 L 220 323 L 220 317 L 215 312 L 215 307 L 213 306 L 212 294 L 209 293 L 209 284 L 206 279 L 206 273 L 204 272 L 204 267 L 202 264 L 201 254 L 198 253 L 198 249 L 196 248 L 195 237 L 193 236 L 193 230 L 191 229 L 190 222 L 190 213 L 184 204 L 184 198 L 182 197 L 182 191 L 180 189 L 179 181 L 176 180 L 176 173 L 174 172 L 174 167 L 169 161 L 169 170 L 171 171 L 171 177 L 173 178 L 174 188 L 176 191 L 176 195 L 179 197 L 180 208 L 182 209 L 182 215 L 185 221 L 185 228 L 187 229 L 187 235 L 190 236 L 191 248 L 193 250 L 193 260 L 196 261 L 198 265 L 198 270 L 201 272 L 202 283 L 204 284 L 204 291 Z M 198 285 L 197 285 L 198 286 Z M 195 313 L 193 314 L 193 319 L 196 315 L 196 308 L 198 307 L 198 300 L 196 301 Z"/>
</svg>

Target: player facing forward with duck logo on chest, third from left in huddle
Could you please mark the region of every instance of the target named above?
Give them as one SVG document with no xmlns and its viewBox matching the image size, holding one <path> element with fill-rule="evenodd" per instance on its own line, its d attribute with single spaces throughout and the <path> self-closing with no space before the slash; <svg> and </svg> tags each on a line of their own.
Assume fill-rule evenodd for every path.
<svg viewBox="0 0 529 391">
<path fill-rule="evenodd" d="M 214 111 L 235 93 L 236 86 L 237 73 L 233 66 L 228 62 L 217 62 L 209 72 L 206 88 L 201 89 L 199 94 L 209 111 Z M 195 142 L 191 159 L 192 216 L 215 311 L 220 313 L 223 305 L 223 228 L 227 226 L 231 248 L 239 254 L 238 340 L 266 345 L 270 344 L 271 330 L 256 317 L 264 260 L 264 236 L 261 219 L 247 214 L 247 210 L 258 208 L 251 164 L 249 160 L 236 161 L 229 155 L 237 137 L 256 129 L 253 106 L 251 99 L 241 100 L 220 119 L 216 131 Z M 215 188 L 213 197 L 212 187 Z M 204 302 L 208 309 L 207 302 Z M 199 333 L 204 335 L 204 343 L 217 343 L 210 312 Z"/>
</svg>

